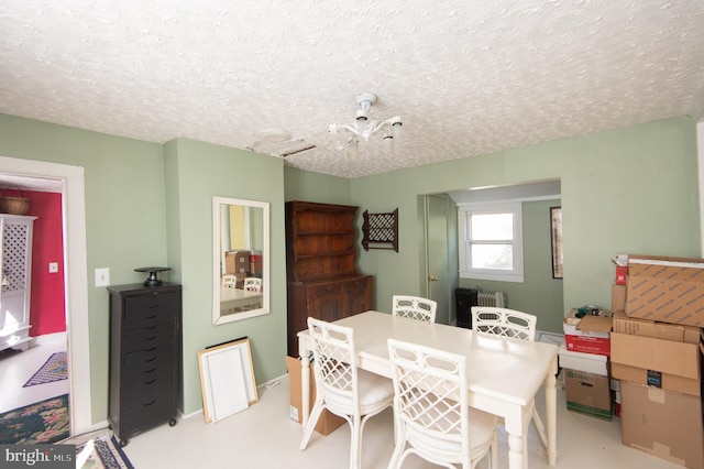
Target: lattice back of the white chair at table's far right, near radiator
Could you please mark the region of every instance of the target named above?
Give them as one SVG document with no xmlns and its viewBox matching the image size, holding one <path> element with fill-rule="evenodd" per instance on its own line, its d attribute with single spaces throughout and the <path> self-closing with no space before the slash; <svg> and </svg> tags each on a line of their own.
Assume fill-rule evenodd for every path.
<svg viewBox="0 0 704 469">
<path fill-rule="evenodd" d="M 472 328 L 481 334 L 536 340 L 537 317 L 508 308 L 472 306 Z"/>
</svg>

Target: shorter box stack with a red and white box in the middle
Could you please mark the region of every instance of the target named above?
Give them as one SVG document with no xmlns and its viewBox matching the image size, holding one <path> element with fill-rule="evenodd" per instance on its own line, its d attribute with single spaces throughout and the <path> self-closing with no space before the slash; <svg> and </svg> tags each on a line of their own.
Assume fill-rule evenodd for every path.
<svg viewBox="0 0 704 469">
<path fill-rule="evenodd" d="M 610 312 L 578 317 L 572 309 L 564 318 L 564 347 L 559 360 L 563 369 L 568 410 L 612 419 L 608 355 Z"/>
</svg>

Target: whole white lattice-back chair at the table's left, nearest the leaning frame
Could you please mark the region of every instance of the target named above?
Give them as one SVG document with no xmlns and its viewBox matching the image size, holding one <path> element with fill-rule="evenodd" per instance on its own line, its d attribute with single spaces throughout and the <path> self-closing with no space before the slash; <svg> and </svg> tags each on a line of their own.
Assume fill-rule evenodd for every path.
<svg viewBox="0 0 704 469">
<path fill-rule="evenodd" d="M 306 425 L 300 449 L 306 449 L 323 408 L 343 417 L 351 427 L 350 468 L 362 459 L 362 432 L 370 417 L 393 405 L 394 385 L 387 378 L 356 368 L 354 330 L 308 318 L 316 402 Z"/>
</svg>

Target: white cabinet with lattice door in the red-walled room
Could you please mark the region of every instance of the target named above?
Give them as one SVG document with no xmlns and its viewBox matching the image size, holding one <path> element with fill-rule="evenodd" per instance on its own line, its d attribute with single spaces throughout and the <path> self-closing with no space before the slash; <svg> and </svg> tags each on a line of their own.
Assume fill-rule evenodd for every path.
<svg viewBox="0 0 704 469">
<path fill-rule="evenodd" d="M 30 337 L 32 229 L 36 217 L 0 215 L 0 350 L 26 350 Z"/>
</svg>

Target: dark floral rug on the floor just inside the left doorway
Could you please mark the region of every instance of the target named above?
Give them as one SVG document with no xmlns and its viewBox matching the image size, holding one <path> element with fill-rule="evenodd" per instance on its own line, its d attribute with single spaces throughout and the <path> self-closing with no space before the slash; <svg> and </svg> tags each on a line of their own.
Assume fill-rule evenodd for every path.
<svg viewBox="0 0 704 469">
<path fill-rule="evenodd" d="M 68 394 L 0 414 L 0 443 L 34 445 L 68 436 Z"/>
</svg>

